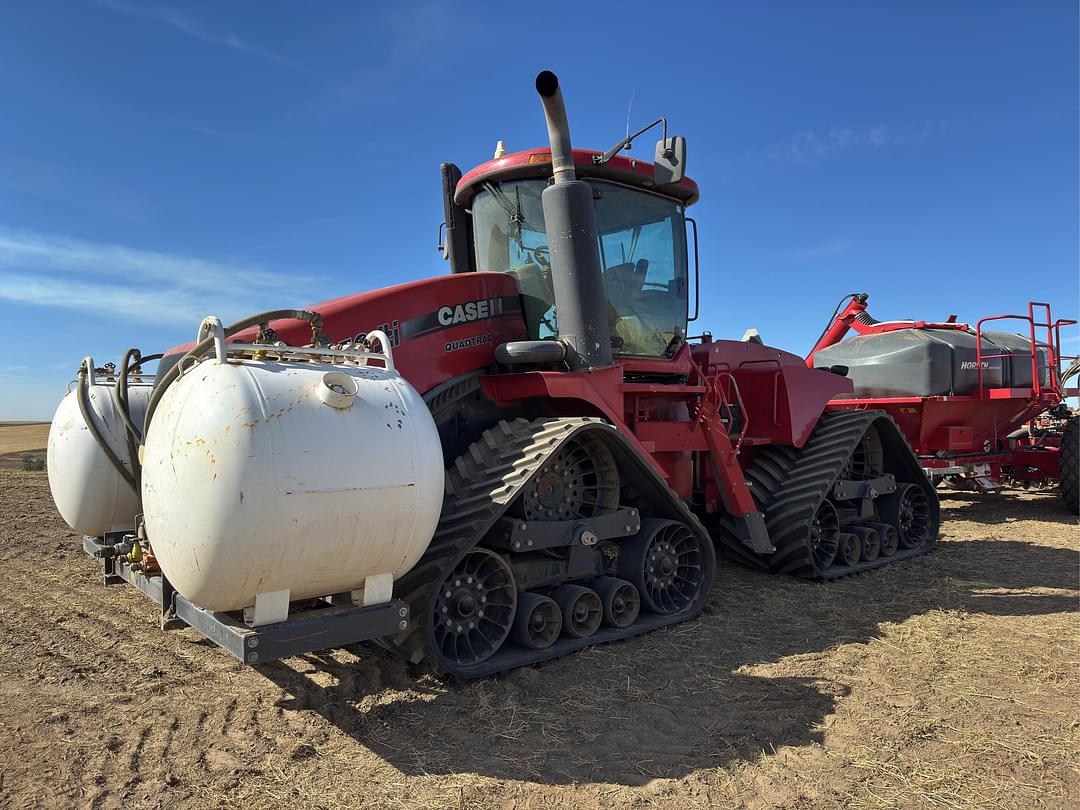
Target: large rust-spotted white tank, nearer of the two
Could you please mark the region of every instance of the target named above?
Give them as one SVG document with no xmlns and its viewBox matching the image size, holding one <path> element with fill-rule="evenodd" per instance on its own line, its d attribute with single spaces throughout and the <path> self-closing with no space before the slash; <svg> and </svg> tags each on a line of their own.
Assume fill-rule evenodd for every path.
<svg viewBox="0 0 1080 810">
<path fill-rule="evenodd" d="M 443 501 L 431 411 L 389 357 L 383 368 L 292 352 L 187 368 L 144 448 L 161 570 L 207 610 L 254 607 L 256 624 L 260 594 L 279 605 L 273 621 L 288 600 L 357 591 L 368 577 L 387 591 L 374 600 L 388 599 L 390 577 L 428 548 Z"/>
</svg>

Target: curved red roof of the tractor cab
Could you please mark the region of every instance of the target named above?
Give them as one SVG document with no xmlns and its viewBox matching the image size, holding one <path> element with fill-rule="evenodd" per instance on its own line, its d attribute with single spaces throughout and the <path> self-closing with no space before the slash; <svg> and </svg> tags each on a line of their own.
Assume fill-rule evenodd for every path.
<svg viewBox="0 0 1080 810">
<path fill-rule="evenodd" d="M 700 197 L 698 184 L 689 177 L 679 183 L 657 188 L 653 184 L 652 162 L 627 156 L 617 154 L 603 166 L 593 162 L 593 158 L 603 154 L 591 149 L 573 150 L 573 167 L 578 177 L 596 177 L 598 179 L 621 183 L 626 186 L 654 191 L 665 197 L 678 200 L 684 205 L 692 205 Z M 482 163 L 465 174 L 454 192 L 454 201 L 463 207 L 472 205 L 472 199 L 480 190 L 481 184 L 488 180 L 513 180 L 523 177 L 550 177 L 551 149 L 527 149 L 512 152 L 501 158 Z"/>
</svg>

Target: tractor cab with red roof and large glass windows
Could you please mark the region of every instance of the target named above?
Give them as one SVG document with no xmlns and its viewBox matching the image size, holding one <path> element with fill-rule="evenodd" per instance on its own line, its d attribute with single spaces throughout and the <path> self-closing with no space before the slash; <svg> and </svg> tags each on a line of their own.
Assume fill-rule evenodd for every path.
<svg viewBox="0 0 1080 810">
<path fill-rule="evenodd" d="M 684 147 L 685 159 L 685 147 Z M 698 199 L 685 177 L 657 183 L 652 163 L 572 150 L 589 184 L 607 326 L 616 355 L 670 357 L 686 340 L 690 261 L 686 206 Z M 551 252 L 541 195 L 550 150 L 497 157 L 463 177 L 445 166 L 447 239 L 453 272 L 497 271 L 517 281 L 529 338 L 559 334 Z M 457 173 L 457 177 L 455 174 Z M 453 195 L 450 195 L 453 189 Z"/>
</svg>

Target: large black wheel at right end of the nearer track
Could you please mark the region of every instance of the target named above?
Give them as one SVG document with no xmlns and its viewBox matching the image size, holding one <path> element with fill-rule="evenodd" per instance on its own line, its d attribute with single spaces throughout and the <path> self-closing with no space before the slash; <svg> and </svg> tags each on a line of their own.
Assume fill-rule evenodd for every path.
<svg viewBox="0 0 1080 810">
<path fill-rule="evenodd" d="M 670 616 L 692 605 L 706 585 L 705 553 L 689 526 L 652 517 L 620 545 L 619 577 L 634 584 L 643 607 Z"/>
</svg>

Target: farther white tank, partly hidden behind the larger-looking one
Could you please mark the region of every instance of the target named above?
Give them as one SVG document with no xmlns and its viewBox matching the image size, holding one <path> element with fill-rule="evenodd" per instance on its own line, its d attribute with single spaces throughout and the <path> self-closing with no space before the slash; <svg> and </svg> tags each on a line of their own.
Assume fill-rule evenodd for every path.
<svg viewBox="0 0 1080 810">
<path fill-rule="evenodd" d="M 90 414 L 112 448 L 131 472 L 131 454 L 120 410 L 113 399 L 114 378 L 95 376 L 89 357 L 87 394 Z M 127 387 L 132 419 L 143 423 L 150 399 L 149 382 L 133 381 Z M 49 487 L 60 516 L 81 535 L 100 537 L 106 531 L 132 529 L 139 512 L 139 498 L 105 455 L 79 410 L 78 390 L 68 392 L 56 408 L 49 428 Z"/>
</svg>

